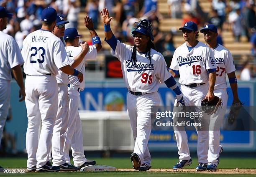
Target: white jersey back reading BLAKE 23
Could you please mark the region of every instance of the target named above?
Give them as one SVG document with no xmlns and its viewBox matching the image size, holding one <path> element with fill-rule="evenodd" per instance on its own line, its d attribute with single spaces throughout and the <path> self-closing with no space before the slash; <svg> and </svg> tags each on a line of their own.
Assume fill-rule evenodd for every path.
<svg viewBox="0 0 256 177">
<path fill-rule="evenodd" d="M 69 65 L 63 43 L 49 30 L 30 33 L 23 41 L 21 54 L 25 61 L 24 72 L 31 76 L 56 75 L 59 68 Z"/>
</svg>

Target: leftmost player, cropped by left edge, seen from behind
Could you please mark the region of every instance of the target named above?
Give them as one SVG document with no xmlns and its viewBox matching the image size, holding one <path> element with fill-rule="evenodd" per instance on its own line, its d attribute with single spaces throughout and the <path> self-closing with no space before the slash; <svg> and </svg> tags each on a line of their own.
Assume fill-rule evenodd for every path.
<svg viewBox="0 0 256 177">
<path fill-rule="evenodd" d="M 22 97 L 19 101 L 23 101 L 26 96 L 20 68 L 24 61 L 20 49 L 13 37 L 3 33 L 3 30 L 6 29 L 7 18 L 12 16 L 12 13 L 0 6 L 0 144 L 10 106 L 11 71 L 13 71 L 13 76 L 20 87 L 19 97 Z M 0 169 L 2 168 L 0 167 Z"/>
</svg>

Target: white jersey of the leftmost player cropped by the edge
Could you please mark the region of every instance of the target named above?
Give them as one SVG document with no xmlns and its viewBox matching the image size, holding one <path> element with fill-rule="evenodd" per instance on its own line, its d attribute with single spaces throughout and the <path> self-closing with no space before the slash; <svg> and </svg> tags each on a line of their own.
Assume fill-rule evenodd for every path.
<svg viewBox="0 0 256 177">
<path fill-rule="evenodd" d="M 11 68 L 24 63 L 12 36 L 0 31 L 0 79 L 11 80 Z"/>
</svg>

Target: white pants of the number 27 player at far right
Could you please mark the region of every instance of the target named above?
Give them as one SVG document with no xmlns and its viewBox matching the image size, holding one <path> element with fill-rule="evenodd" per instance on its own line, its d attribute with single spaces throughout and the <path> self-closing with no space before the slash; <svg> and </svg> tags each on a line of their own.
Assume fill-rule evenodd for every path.
<svg viewBox="0 0 256 177">
<path fill-rule="evenodd" d="M 220 154 L 220 125 L 223 123 L 225 111 L 228 103 L 228 94 L 226 89 L 214 90 L 214 95 L 221 98 L 222 108 L 219 107 L 216 114 L 212 114 L 209 127 L 209 151 L 208 162 L 218 165 Z"/>
</svg>

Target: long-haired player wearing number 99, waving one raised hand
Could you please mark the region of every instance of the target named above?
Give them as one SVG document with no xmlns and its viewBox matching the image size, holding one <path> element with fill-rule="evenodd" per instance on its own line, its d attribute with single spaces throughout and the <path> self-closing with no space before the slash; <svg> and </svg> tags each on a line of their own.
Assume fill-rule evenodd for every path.
<svg viewBox="0 0 256 177">
<path fill-rule="evenodd" d="M 127 112 L 131 121 L 134 151 L 131 154 L 133 168 L 146 171 L 151 168 L 151 155 L 147 144 L 151 132 L 151 106 L 160 104 L 157 93 L 159 84 L 165 83 L 177 94 L 178 104 L 183 104 L 183 97 L 176 81 L 168 71 L 161 53 L 155 50 L 152 27 L 148 20 L 141 20 L 132 34 L 134 46 L 120 43 L 111 29 L 108 10 L 101 12 L 105 24 L 105 41 L 113 49 L 113 55 L 121 62 L 123 80 L 128 89 Z"/>
</svg>

